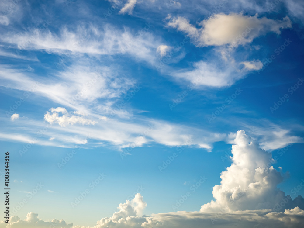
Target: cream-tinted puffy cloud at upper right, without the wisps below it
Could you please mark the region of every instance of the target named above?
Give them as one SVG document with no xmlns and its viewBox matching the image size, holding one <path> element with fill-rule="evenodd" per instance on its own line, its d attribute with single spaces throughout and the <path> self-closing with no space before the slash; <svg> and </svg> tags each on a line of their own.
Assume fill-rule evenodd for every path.
<svg viewBox="0 0 304 228">
<path fill-rule="evenodd" d="M 258 36 L 268 32 L 280 34 L 280 29 L 291 28 L 291 21 L 286 16 L 283 20 L 273 20 L 266 17 L 257 18 L 243 14 L 220 13 L 199 23 L 196 28 L 184 17 L 169 17 L 168 26 L 182 31 L 192 38 L 197 46 L 233 46 L 250 43 Z"/>
</svg>

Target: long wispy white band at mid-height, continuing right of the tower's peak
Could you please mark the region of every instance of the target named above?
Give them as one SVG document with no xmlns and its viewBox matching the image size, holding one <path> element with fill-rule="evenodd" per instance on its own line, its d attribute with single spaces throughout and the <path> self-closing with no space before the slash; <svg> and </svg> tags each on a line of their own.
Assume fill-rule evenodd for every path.
<svg viewBox="0 0 304 228">
<path fill-rule="evenodd" d="M 58 117 L 60 117 L 59 111 L 66 113 L 61 119 L 57 119 L 57 114 L 54 116 L 54 123 L 58 124 L 50 125 L 47 122 L 42 123 L 33 119 L 20 119 L 18 125 L 26 129 L 28 134 L 19 134 L 10 125 L 3 125 L 2 130 L 6 133 L 0 133 L 0 140 L 69 148 L 74 148 L 75 144 L 86 145 L 87 148 L 98 147 L 102 144 L 103 146 L 114 146 L 118 150 L 126 147 L 142 147 L 159 143 L 170 147 L 188 145 L 189 147 L 199 147 L 211 152 L 214 142 L 226 141 L 232 144 L 236 136 L 235 133 L 231 132 L 214 132 L 140 116 L 132 116 L 132 123 L 130 123 L 130 119 L 117 119 L 116 116 L 102 119 L 97 114 L 80 116 L 80 114 L 75 115 L 75 112 L 67 112 L 64 108 L 53 110 L 56 111 L 52 113 L 51 109 L 49 111 L 50 116 L 57 113 Z M 94 125 L 82 125 L 79 123 L 68 125 L 71 116 L 82 117 L 98 123 Z M 65 122 L 65 120 L 68 121 Z M 235 120 L 229 121 L 234 122 Z M 61 127 L 59 123 L 65 124 L 66 127 Z M 292 134 L 300 126 L 289 125 L 288 127 L 292 130 L 286 130 L 286 126 L 278 126 L 261 119 L 258 120 L 257 125 L 253 126 L 242 122 L 239 124 L 250 132 L 253 139 L 259 142 L 261 148 L 268 151 L 286 147 L 291 143 L 304 142 L 303 138 Z M 254 124 L 254 120 L 250 120 L 250 124 Z M 45 129 L 46 126 L 47 130 L 43 131 L 37 139 L 37 132 Z M 35 137 L 36 139 L 34 140 Z M 125 149 L 122 150 L 125 151 Z"/>
</svg>

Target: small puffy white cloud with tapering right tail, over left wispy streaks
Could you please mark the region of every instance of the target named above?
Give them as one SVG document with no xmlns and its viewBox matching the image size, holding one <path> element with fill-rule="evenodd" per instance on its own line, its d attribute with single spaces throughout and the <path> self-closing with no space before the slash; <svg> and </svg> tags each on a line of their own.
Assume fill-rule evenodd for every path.
<svg viewBox="0 0 304 228">
<path fill-rule="evenodd" d="M 59 114 L 62 114 L 62 116 L 59 116 Z M 76 116 L 73 115 L 73 112 L 67 112 L 67 109 L 58 107 L 56 109 L 51 108 L 50 112 L 47 112 L 44 115 L 44 119 L 52 123 L 58 123 L 60 126 L 65 127 L 67 125 L 73 125 L 76 123 L 82 124 L 82 125 L 89 125 L 89 124 L 95 124 L 96 121 L 92 121 L 90 119 L 85 119 L 82 116 Z"/>
</svg>

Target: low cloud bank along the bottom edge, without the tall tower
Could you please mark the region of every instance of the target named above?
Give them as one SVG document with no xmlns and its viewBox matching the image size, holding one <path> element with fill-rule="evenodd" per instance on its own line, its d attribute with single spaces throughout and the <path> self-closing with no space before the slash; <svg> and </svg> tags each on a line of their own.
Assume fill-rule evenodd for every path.
<svg viewBox="0 0 304 228">
<path fill-rule="evenodd" d="M 137 199 L 136 199 L 137 198 Z M 137 206 L 132 206 L 133 201 L 137 201 L 145 207 L 142 196 L 136 195 L 132 201 L 127 200 L 123 204 L 119 204 L 118 212 L 113 216 L 106 217 L 97 222 L 92 228 L 212 228 L 212 227 L 267 227 L 267 228 L 300 228 L 304 223 L 304 211 L 299 207 L 294 209 L 286 209 L 284 212 L 271 212 L 270 210 L 245 210 L 234 212 L 219 213 L 202 213 L 202 212 L 186 212 L 179 211 L 176 213 L 160 213 L 151 216 L 139 216 L 136 212 Z M 35 217 L 32 221 L 23 221 L 19 217 L 11 217 L 11 224 L 7 228 L 24 228 L 36 227 L 46 228 L 53 227 L 73 227 L 73 228 L 90 228 L 72 226 L 71 223 L 65 223 L 63 220 L 52 220 L 44 222 L 41 219 L 37 221 L 38 215 L 33 212 Z M 29 215 L 28 214 L 28 215 Z M 27 220 L 27 219 L 26 219 Z M 26 226 L 31 225 L 31 226 Z M 5 224 L 0 222 L 0 227 L 5 228 Z"/>
</svg>

